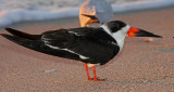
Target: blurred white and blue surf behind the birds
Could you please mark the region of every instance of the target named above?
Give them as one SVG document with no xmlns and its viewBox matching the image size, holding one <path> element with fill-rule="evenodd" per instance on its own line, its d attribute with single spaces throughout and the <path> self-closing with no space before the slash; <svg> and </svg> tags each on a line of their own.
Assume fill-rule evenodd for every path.
<svg viewBox="0 0 174 92">
<path fill-rule="evenodd" d="M 86 0 L 0 0 L 0 27 L 23 21 L 78 16 Z M 114 12 L 169 6 L 174 0 L 108 0 Z"/>
</svg>

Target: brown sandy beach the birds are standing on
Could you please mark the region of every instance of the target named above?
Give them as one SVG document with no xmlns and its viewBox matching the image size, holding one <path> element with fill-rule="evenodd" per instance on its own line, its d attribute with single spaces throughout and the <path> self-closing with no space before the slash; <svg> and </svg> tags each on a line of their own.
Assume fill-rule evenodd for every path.
<svg viewBox="0 0 174 92">
<path fill-rule="evenodd" d="M 35 52 L 0 37 L 0 92 L 174 92 L 174 8 L 121 14 L 115 19 L 164 38 L 152 42 L 126 38 L 123 51 L 97 67 L 98 77 L 105 81 L 95 82 L 87 80 L 78 61 Z M 78 26 L 73 17 L 10 27 L 40 34 Z"/>
</svg>

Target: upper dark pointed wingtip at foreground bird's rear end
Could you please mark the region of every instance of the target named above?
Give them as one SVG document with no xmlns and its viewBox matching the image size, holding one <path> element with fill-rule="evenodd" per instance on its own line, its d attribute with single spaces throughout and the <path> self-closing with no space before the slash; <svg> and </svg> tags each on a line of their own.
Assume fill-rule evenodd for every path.
<svg viewBox="0 0 174 92">
<path fill-rule="evenodd" d="M 12 34 L 13 36 L 18 37 L 18 38 L 23 38 L 23 39 L 40 40 L 40 38 L 41 38 L 41 35 L 29 35 L 29 34 L 22 32 L 22 31 L 16 30 L 16 29 L 9 28 L 9 27 L 5 27 L 4 29 L 7 31 L 9 31 L 10 34 Z M 4 35 L 2 35 L 2 36 L 4 37 Z"/>
</svg>

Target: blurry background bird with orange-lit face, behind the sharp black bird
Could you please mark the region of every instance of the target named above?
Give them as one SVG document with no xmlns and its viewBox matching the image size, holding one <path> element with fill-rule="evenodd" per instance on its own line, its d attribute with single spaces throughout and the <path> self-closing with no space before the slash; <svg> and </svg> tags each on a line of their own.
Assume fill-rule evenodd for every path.
<svg viewBox="0 0 174 92">
<path fill-rule="evenodd" d="M 79 9 L 80 27 L 90 23 L 104 24 L 113 21 L 113 10 L 107 0 L 86 0 Z"/>
</svg>

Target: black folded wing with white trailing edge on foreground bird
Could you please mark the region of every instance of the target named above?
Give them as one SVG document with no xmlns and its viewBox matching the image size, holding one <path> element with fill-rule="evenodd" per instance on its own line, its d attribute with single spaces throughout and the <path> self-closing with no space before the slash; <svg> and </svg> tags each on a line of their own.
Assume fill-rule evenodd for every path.
<svg viewBox="0 0 174 92">
<path fill-rule="evenodd" d="M 84 58 L 108 61 L 119 52 L 117 43 L 104 31 L 92 28 L 54 30 L 42 36 L 46 45 Z"/>
</svg>

